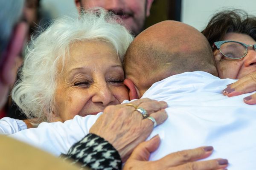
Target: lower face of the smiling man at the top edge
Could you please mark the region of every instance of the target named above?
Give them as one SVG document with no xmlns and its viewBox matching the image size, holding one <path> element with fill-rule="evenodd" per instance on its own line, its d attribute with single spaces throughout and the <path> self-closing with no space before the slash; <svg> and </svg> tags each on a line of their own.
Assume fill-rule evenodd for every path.
<svg viewBox="0 0 256 170">
<path fill-rule="evenodd" d="M 85 9 L 92 7 L 102 7 L 108 11 L 113 11 L 122 18 L 123 23 L 128 30 L 134 34 L 139 34 L 144 26 L 145 17 L 149 16 L 151 3 L 150 0 L 81 0 L 79 7 Z"/>
</svg>

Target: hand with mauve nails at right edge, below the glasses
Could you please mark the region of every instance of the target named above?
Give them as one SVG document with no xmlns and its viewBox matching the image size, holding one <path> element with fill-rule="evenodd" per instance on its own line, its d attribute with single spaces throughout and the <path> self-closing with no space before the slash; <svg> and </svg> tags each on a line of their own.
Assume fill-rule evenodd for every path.
<svg viewBox="0 0 256 170">
<path fill-rule="evenodd" d="M 247 76 L 239 79 L 223 90 L 225 96 L 238 96 L 240 94 L 246 94 L 256 91 L 256 72 L 248 74 Z M 256 94 L 247 96 L 244 98 L 244 102 L 248 105 L 256 104 Z"/>
</svg>

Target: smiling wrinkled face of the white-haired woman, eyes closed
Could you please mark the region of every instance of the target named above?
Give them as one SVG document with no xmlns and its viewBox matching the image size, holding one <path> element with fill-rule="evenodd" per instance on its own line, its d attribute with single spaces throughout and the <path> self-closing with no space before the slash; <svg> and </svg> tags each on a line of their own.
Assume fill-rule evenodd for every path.
<svg viewBox="0 0 256 170">
<path fill-rule="evenodd" d="M 124 79 L 112 45 L 103 41 L 75 42 L 57 78 L 52 122 L 96 114 L 108 105 L 120 104 L 128 99 Z"/>
</svg>

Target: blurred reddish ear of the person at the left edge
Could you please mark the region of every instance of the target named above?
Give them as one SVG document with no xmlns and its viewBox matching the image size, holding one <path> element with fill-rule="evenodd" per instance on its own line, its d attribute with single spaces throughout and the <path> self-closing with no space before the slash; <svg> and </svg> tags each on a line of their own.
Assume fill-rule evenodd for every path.
<svg viewBox="0 0 256 170">
<path fill-rule="evenodd" d="M 12 68 L 15 66 L 16 57 L 19 57 L 27 37 L 28 24 L 25 22 L 18 23 L 13 31 L 9 41 L 8 48 L 5 52 L 2 79 L 6 84 L 13 84 L 16 80 L 17 73 L 14 73 Z M 13 75 L 15 74 L 15 75 Z"/>
</svg>

